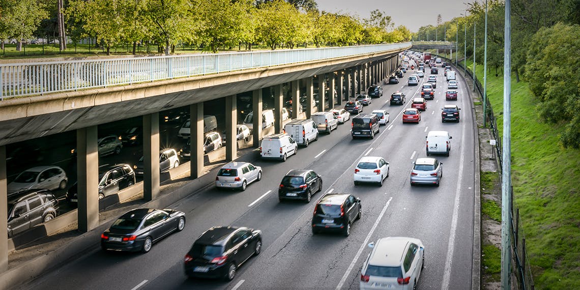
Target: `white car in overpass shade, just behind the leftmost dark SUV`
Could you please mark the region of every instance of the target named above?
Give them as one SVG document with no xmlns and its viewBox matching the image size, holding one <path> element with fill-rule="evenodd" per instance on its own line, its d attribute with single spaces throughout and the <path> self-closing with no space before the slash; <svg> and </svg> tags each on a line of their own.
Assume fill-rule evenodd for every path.
<svg viewBox="0 0 580 290">
<path fill-rule="evenodd" d="M 8 197 L 28 189 L 65 189 L 67 182 L 67 173 L 59 166 L 32 167 L 8 183 Z"/>
</svg>

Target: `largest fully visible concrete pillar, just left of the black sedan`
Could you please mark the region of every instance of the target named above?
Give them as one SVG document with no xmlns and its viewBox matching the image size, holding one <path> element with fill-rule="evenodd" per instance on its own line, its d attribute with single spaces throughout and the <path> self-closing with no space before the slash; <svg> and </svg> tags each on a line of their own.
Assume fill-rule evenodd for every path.
<svg viewBox="0 0 580 290">
<path fill-rule="evenodd" d="M 77 129 L 78 230 L 99 226 L 99 149 L 97 126 Z"/>
</svg>

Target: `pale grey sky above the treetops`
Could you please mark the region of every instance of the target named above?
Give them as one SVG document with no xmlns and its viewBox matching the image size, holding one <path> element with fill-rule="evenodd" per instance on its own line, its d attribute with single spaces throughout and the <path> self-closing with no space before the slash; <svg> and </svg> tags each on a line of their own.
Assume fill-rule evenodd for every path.
<svg viewBox="0 0 580 290">
<path fill-rule="evenodd" d="M 441 14 L 443 22 L 461 16 L 467 5 L 474 0 L 316 0 L 319 10 L 357 14 L 368 18 L 371 11 L 379 9 L 393 20 L 395 27 L 404 25 L 411 32 L 417 32 L 419 27 L 429 24 L 437 25 L 437 14 Z"/>
</svg>

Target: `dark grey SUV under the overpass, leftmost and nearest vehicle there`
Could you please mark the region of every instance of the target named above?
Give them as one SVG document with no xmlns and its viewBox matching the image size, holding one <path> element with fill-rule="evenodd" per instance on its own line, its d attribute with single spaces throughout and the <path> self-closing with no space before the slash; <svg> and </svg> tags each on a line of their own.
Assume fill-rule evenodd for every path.
<svg viewBox="0 0 580 290">
<path fill-rule="evenodd" d="M 48 189 L 30 189 L 8 200 L 8 237 L 58 215 L 59 201 Z"/>
</svg>

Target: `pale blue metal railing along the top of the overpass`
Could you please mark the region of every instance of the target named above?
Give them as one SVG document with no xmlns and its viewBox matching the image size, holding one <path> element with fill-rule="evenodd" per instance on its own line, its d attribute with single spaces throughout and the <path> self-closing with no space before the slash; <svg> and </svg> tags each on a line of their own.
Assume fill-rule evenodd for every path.
<svg viewBox="0 0 580 290">
<path fill-rule="evenodd" d="M 411 47 L 411 42 L 266 52 L 0 64 L 0 100 L 6 97 L 43 95 L 194 75 L 218 74 L 409 47 Z"/>
</svg>

